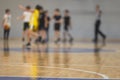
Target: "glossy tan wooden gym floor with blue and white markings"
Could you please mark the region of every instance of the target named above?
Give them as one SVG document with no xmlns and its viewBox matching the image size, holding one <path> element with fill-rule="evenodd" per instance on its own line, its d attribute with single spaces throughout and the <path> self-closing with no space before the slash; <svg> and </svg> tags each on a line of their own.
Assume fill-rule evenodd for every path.
<svg viewBox="0 0 120 80">
<path fill-rule="evenodd" d="M 120 43 L 33 44 L 0 40 L 0 80 L 119 79 Z"/>
</svg>

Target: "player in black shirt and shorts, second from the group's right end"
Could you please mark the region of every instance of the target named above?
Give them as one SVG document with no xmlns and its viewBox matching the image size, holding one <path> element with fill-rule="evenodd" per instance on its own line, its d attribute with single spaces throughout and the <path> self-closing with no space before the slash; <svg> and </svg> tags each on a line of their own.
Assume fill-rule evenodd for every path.
<svg viewBox="0 0 120 80">
<path fill-rule="evenodd" d="M 53 19 L 55 21 L 55 23 L 54 23 L 55 43 L 58 43 L 60 41 L 60 27 L 61 27 L 61 23 L 62 23 L 62 16 L 60 14 L 59 9 L 55 9 Z"/>
</svg>

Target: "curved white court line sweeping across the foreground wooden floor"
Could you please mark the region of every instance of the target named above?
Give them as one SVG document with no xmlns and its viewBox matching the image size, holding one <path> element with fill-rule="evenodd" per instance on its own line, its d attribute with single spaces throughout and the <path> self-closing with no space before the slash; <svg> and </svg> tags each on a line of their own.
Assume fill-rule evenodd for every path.
<svg viewBox="0 0 120 80">
<path fill-rule="evenodd" d="M 30 65 L 8 65 L 8 66 L 26 66 L 29 67 Z M 34 66 L 33 66 L 34 67 Z M 36 66 L 35 66 L 36 67 Z M 37 67 L 43 67 L 43 68 L 51 68 L 51 69 L 62 69 L 62 70 L 70 70 L 70 71 L 78 71 L 78 72 L 84 72 L 84 73 L 90 73 L 90 74 L 95 74 L 98 76 L 103 77 L 104 79 L 109 79 L 108 76 L 101 74 L 101 73 L 97 73 L 97 72 L 93 72 L 93 71 L 86 71 L 86 70 L 81 70 L 81 69 L 74 69 L 74 68 L 60 68 L 60 67 L 52 67 L 52 66 L 37 66 Z"/>
</svg>

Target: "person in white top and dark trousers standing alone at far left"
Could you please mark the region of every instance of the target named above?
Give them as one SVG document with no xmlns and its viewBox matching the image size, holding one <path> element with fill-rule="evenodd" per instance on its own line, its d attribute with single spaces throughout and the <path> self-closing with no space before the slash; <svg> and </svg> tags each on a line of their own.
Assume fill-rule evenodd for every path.
<svg viewBox="0 0 120 80">
<path fill-rule="evenodd" d="M 3 23 L 4 27 L 4 40 L 9 39 L 9 34 L 10 34 L 10 27 L 11 27 L 11 14 L 10 14 L 10 9 L 5 10 L 5 15 L 3 18 Z"/>
</svg>

